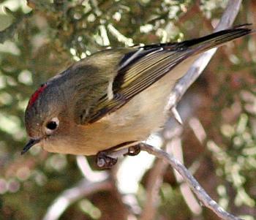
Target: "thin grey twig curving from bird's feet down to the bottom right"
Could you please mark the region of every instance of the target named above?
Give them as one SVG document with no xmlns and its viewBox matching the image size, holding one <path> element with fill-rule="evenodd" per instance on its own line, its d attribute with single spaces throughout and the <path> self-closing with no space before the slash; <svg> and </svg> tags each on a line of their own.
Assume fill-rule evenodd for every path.
<svg viewBox="0 0 256 220">
<path fill-rule="evenodd" d="M 141 150 L 146 151 L 157 158 L 163 159 L 165 162 L 170 164 L 178 173 L 184 178 L 184 180 L 189 184 L 190 188 L 197 195 L 200 202 L 203 203 L 207 208 L 214 211 L 214 213 L 219 216 L 219 218 L 224 220 L 241 220 L 230 213 L 227 213 L 222 207 L 220 207 L 217 202 L 211 199 L 211 197 L 206 193 L 202 186 L 196 181 L 192 174 L 187 170 L 184 164 L 181 164 L 174 156 L 162 151 L 160 149 L 154 148 L 150 145 L 141 145 Z"/>
</svg>

